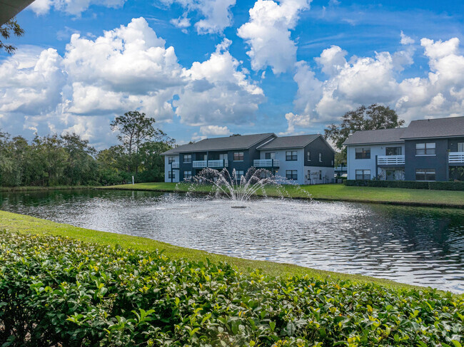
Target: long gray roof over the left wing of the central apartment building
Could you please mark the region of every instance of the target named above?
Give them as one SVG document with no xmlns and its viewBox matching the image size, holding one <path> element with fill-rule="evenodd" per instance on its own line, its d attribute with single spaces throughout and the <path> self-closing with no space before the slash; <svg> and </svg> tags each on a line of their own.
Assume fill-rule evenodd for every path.
<svg viewBox="0 0 464 347">
<path fill-rule="evenodd" d="M 206 152 L 208 150 L 246 150 L 247 148 L 260 143 L 266 138 L 276 136 L 273 133 L 228 136 L 227 138 L 206 138 L 198 143 L 181 145 L 171 150 L 163 152 L 162 155 L 176 155 L 186 152 Z"/>
</svg>

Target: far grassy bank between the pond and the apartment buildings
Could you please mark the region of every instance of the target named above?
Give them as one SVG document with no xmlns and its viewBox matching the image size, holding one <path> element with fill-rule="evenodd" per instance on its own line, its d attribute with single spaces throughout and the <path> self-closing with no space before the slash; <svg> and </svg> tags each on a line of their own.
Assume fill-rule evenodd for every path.
<svg viewBox="0 0 464 347">
<path fill-rule="evenodd" d="M 136 185 L 116 185 L 104 189 L 116 190 L 155 190 L 158 192 L 187 192 L 188 184 L 176 183 L 138 183 Z M 380 187 L 348 187 L 346 185 L 301 185 L 286 186 L 288 197 L 306 199 L 308 194 L 315 200 L 372 202 L 381 204 L 403 204 L 424 207 L 464 208 L 463 192 L 444 190 L 411 190 Z M 197 192 L 209 192 L 211 187 L 198 187 Z M 278 192 L 272 187 L 266 188 L 266 194 L 274 197 Z"/>
</svg>

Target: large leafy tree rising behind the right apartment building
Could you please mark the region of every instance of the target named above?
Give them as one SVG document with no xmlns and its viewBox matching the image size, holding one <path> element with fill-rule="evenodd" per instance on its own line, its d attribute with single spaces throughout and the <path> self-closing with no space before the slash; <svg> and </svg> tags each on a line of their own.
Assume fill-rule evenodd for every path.
<svg viewBox="0 0 464 347">
<path fill-rule="evenodd" d="M 362 105 L 356 110 L 348 111 L 343 115 L 340 125 L 331 124 L 324 130 L 324 133 L 326 139 L 331 140 L 338 150 L 343 150 L 344 157 L 346 157 L 343 143 L 355 131 L 393 129 L 403 124 L 404 120 L 398 119 L 395 110 L 374 103 L 367 108 Z"/>
</svg>

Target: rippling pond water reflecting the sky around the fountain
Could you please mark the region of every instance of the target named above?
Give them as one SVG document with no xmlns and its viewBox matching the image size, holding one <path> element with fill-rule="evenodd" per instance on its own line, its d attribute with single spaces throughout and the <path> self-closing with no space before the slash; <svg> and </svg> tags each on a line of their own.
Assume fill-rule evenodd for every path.
<svg viewBox="0 0 464 347">
<path fill-rule="evenodd" d="M 231 257 L 464 292 L 464 210 L 116 190 L 0 193 L 1 209 Z"/>
</svg>

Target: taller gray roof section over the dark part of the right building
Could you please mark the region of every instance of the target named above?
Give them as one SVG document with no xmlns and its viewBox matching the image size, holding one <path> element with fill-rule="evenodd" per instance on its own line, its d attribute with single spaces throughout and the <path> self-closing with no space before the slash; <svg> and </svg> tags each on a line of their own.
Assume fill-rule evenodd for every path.
<svg viewBox="0 0 464 347">
<path fill-rule="evenodd" d="M 401 138 L 448 138 L 452 136 L 464 136 L 464 117 L 413 120 Z"/>
</svg>

